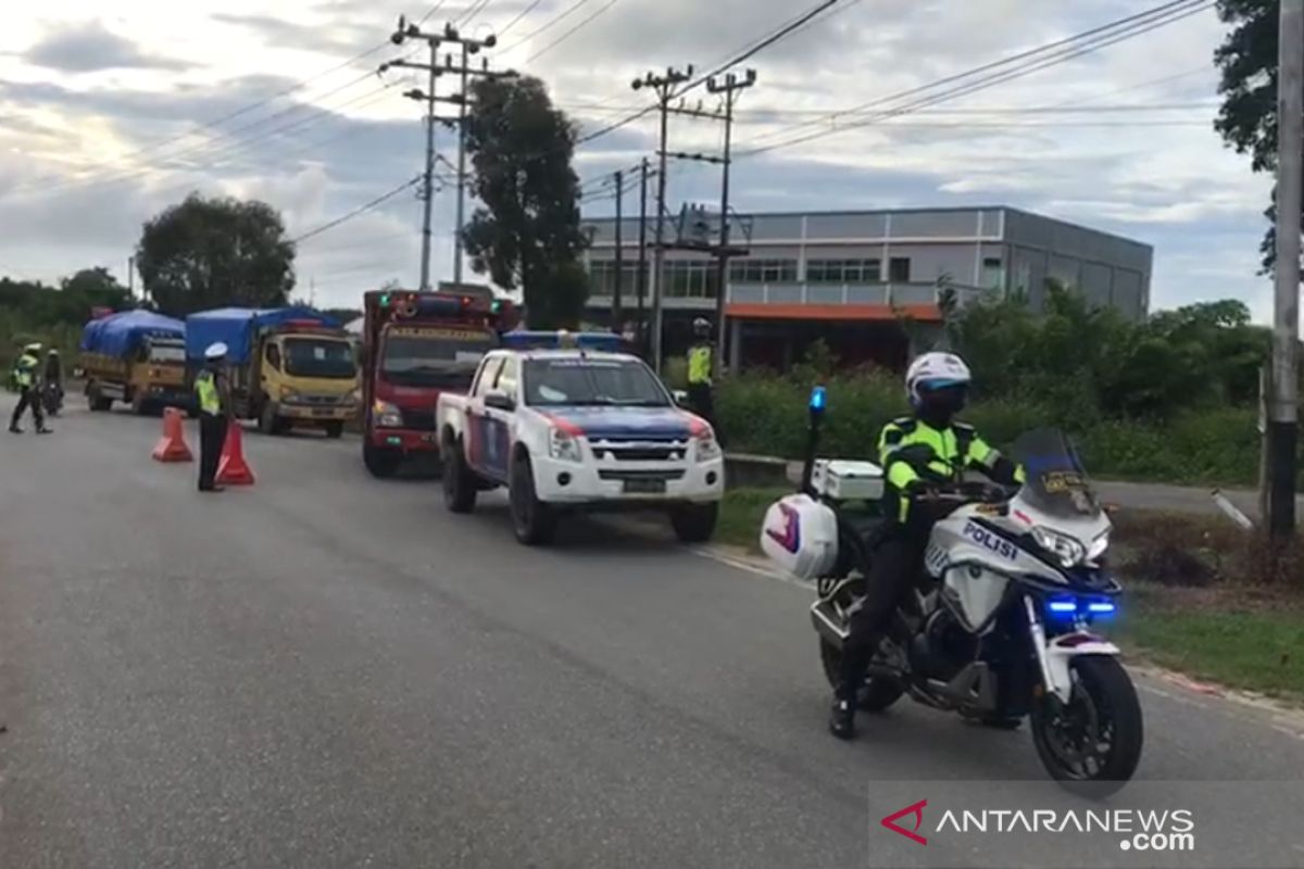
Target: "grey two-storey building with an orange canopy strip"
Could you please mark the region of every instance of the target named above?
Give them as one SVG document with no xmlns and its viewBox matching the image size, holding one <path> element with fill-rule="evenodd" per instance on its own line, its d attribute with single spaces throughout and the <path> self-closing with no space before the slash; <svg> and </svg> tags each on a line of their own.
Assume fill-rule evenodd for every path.
<svg viewBox="0 0 1304 869">
<path fill-rule="evenodd" d="M 609 323 L 615 272 L 615 220 L 587 219 L 592 245 L 589 318 Z M 638 309 L 639 220 L 621 227 L 622 321 Z M 719 219 L 712 235 L 719 233 Z M 666 221 L 666 240 L 691 229 Z M 900 366 L 913 344 L 940 330 L 939 293 L 960 305 L 1021 293 L 1042 310 L 1047 279 L 1090 302 L 1144 318 L 1154 250 L 1145 244 L 1004 206 L 900 211 L 778 212 L 734 216 L 730 236 L 746 255 L 730 262 L 728 357 L 738 365 L 786 370 L 823 337 L 846 363 Z M 647 227 L 648 245 L 655 227 Z M 652 251 L 647 251 L 651 270 Z M 707 253 L 666 253 L 664 349 L 681 353 L 696 317 L 715 319 L 717 261 Z M 651 288 L 651 281 L 648 281 Z M 651 292 L 651 289 L 648 291 Z M 651 311 L 651 296 L 644 298 Z M 902 326 L 902 315 L 913 324 Z"/>
</svg>

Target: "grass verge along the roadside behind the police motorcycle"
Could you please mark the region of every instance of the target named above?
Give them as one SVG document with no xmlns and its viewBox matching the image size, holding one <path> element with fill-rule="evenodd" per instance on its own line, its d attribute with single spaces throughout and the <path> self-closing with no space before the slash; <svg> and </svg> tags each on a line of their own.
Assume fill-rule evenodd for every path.
<svg viewBox="0 0 1304 869">
<path fill-rule="evenodd" d="M 725 492 L 716 542 L 759 552 L 765 508 L 789 489 Z M 1125 585 L 1111 632 L 1124 650 L 1196 679 L 1304 704 L 1304 593 L 1237 569 L 1228 522 L 1154 512 L 1114 516 Z M 1180 552 L 1178 559 L 1174 552 Z M 1151 571 L 1163 571 L 1149 577 Z M 1189 582 L 1189 585 L 1188 585 Z"/>
</svg>

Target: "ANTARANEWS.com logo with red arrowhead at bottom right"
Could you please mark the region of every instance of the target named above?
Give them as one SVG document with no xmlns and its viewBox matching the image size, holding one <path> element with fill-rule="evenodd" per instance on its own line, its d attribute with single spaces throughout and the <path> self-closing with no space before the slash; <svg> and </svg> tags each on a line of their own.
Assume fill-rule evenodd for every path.
<svg viewBox="0 0 1304 869">
<path fill-rule="evenodd" d="M 892 833 L 926 846 L 928 839 L 923 835 L 923 809 L 927 805 L 927 800 L 919 800 L 885 816 L 880 823 Z M 1119 835 L 1121 851 L 1194 851 L 1194 813 L 1189 809 L 947 809 L 931 833 L 1101 833 Z"/>
</svg>

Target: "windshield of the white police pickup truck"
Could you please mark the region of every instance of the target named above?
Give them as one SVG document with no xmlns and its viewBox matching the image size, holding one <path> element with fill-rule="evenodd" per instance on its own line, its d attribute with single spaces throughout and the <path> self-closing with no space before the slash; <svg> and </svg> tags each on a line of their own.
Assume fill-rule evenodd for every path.
<svg viewBox="0 0 1304 869">
<path fill-rule="evenodd" d="M 664 408 L 670 405 L 670 396 L 648 366 L 636 360 L 529 360 L 526 404 Z"/>
</svg>

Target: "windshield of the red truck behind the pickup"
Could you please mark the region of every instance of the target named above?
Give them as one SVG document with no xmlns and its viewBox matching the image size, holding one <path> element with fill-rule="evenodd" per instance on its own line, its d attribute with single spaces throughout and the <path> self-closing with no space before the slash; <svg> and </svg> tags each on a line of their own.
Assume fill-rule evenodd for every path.
<svg viewBox="0 0 1304 869">
<path fill-rule="evenodd" d="M 469 390 L 476 367 L 494 348 L 493 332 L 395 330 L 385 339 L 381 374 L 398 386 Z"/>
</svg>

